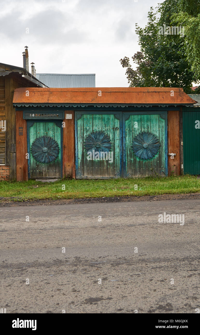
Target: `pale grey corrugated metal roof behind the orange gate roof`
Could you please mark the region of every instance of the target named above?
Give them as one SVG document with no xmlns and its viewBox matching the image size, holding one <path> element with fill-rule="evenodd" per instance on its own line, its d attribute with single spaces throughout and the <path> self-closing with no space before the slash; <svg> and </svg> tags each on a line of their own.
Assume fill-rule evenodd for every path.
<svg viewBox="0 0 200 335">
<path fill-rule="evenodd" d="M 95 74 L 36 73 L 38 80 L 48 87 L 95 87 Z"/>
</svg>

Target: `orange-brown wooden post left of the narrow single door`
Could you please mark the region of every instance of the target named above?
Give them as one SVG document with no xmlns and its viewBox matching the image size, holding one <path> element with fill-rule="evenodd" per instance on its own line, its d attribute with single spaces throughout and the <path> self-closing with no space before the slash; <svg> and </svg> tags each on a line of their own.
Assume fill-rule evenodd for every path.
<svg viewBox="0 0 200 335">
<path fill-rule="evenodd" d="M 23 135 L 19 135 L 19 127 L 23 127 Z M 23 111 L 16 112 L 16 165 L 23 165 L 23 180 L 28 180 L 27 154 L 27 121 L 23 120 Z M 20 174 L 19 174 L 20 176 Z M 18 180 L 17 181 L 21 181 Z"/>
</svg>

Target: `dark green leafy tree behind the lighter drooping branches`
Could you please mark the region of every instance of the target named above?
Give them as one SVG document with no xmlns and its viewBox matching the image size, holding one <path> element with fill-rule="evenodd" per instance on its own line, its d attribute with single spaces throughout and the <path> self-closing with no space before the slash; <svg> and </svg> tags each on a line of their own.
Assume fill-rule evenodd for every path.
<svg viewBox="0 0 200 335">
<path fill-rule="evenodd" d="M 144 29 L 136 24 L 141 49 L 132 57 L 133 62 L 137 64 L 136 70 L 132 68 L 128 57 L 120 59 L 122 67 L 126 68 L 131 87 L 183 87 L 186 93 L 191 93 L 192 82 L 198 81 L 185 55 L 184 38 L 180 38 L 179 35 L 158 34 L 159 26 L 170 25 L 174 8 L 177 8 L 179 1 L 182 0 L 166 0 L 159 4 L 158 19 L 151 7 Z"/>
</svg>

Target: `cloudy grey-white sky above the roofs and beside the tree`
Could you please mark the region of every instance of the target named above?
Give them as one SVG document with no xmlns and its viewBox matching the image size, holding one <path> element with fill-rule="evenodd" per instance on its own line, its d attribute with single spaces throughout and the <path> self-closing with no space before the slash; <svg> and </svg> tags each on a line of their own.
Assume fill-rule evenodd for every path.
<svg viewBox="0 0 200 335">
<path fill-rule="evenodd" d="M 96 87 L 127 87 L 119 60 L 140 50 L 135 23 L 163 1 L 0 0 L 0 62 L 22 67 L 27 45 L 37 73 L 96 73 Z"/>
</svg>

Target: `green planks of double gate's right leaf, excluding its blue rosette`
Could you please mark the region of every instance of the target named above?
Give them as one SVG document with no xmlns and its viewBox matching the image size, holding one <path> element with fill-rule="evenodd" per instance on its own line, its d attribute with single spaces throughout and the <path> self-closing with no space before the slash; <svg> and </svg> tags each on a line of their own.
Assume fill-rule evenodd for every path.
<svg viewBox="0 0 200 335">
<path fill-rule="evenodd" d="M 134 154 L 132 143 L 139 133 L 148 132 L 158 138 L 159 151 L 150 159 Z M 130 118 L 123 113 L 123 177 L 164 176 L 167 170 L 167 114 L 136 115 Z"/>
</svg>

